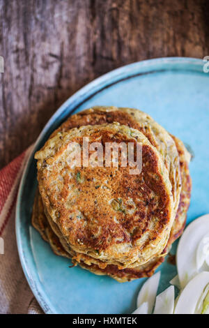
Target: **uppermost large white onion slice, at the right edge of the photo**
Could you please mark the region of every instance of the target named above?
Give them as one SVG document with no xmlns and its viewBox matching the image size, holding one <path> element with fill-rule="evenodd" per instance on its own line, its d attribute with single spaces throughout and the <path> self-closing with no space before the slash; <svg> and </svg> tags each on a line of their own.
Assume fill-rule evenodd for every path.
<svg viewBox="0 0 209 328">
<path fill-rule="evenodd" d="M 184 288 L 188 281 L 199 271 L 202 271 L 202 269 L 197 269 L 202 262 L 202 257 L 197 263 L 196 250 L 206 234 L 209 234 L 209 214 L 201 216 L 190 223 L 180 238 L 176 262 L 181 288 Z M 201 253 L 201 246 L 199 253 Z"/>
</svg>

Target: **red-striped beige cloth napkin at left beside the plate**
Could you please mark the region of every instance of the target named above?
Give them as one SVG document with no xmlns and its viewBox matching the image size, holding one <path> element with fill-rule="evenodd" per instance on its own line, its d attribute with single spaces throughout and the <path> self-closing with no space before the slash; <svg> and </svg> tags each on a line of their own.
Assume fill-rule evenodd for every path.
<svg viewBox="0 0 209 328">
<path fill-rule="evenodd" d="M 0 171 L 0 313 L 40 314 L 24 277 L 15 237 L 15 204 L 29 147 Z"/>
</svg>

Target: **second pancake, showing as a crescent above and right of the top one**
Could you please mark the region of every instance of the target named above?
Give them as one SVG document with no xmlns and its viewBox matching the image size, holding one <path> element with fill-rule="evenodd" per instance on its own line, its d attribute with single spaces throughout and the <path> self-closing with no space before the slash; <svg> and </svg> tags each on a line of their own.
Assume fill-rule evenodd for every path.
<svg viewBox="0 0 209 328">
<path fill-rule="evenodd" d="M 68 131 L 70 128 L 113 123 L 114 121 L 135 128 L 143 133 L 162 155 L 164 164 L 169 172 L 174 202 L 173 215 L 176 216 L 181 192 L 180 163 L 176 143 L 171 135 L 145 112 L 125 107 L 95 106 L 69 117 L 52 133 L 52 136 L 58 131 Z"/>
</svg>

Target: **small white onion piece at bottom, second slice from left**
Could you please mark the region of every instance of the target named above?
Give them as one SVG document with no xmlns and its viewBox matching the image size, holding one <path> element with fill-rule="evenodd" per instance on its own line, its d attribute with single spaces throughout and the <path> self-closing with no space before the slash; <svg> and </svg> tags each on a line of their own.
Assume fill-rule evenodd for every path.
<svg viewBox="0 0 209 328">
<path fill-rule="evenodd" d="M 170 286 L 164 292 L 157 295 L 153 314 L 173 314 L 174 297 L 174 286 Z"/>
</svg>

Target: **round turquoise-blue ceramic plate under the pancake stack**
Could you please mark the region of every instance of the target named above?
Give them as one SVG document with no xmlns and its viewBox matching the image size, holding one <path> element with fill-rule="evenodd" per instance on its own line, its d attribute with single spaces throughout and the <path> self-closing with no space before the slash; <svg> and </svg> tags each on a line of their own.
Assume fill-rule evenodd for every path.
<svg viewBox="0 0 209 328">
<path fill-rule="evenodd" d="M 70 97 L 49 120 L 38 137 L 33 154 L 69 114 L 93 105 L 136 107 L 150 114 L 194 151 L 190 165 L 193 189 L 187 223 L 209 212 L 209 73 L 203 61 L 165 58 L 141 61 L 118 68 Z M 17 199 L 17 246 L 24 274 L 45 313 L 132 313 L 144 279 L 118 283 L 95 276 L 52 253 L 31 227 L 36 190 L 36 161 L 31 154 Z M 171 252 L 176 251 L 173 245 Z M 161 266 L 160 288 L 176 275 L 166 260 Z"/>
</svg>

